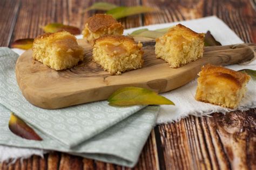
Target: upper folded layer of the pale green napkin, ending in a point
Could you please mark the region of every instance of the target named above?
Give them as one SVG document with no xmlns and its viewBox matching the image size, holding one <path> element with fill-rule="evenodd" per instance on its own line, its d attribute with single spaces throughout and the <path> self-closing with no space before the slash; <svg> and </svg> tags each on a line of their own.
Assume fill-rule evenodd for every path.
<svg viewBox="0 0 256 170">
<path fill-rule="evenodd" d="M 144 106 L 117 108 L 106 101 L 80 104 L 63 109 L 42 109 L 22 95 L 15 76 L 18 54 L 0 47 L 0 104 L 52 138 L 68 147 L 82 143 L 134 114 Z"/>
</svg>

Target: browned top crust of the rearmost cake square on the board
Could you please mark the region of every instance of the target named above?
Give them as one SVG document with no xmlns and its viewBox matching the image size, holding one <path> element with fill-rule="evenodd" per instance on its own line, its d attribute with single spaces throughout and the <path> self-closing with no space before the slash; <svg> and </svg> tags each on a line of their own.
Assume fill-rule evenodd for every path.
<svg viewBox="0 0 256 170">
<path fill-rule="evenodd" d="M 98 30 L 107 28 L 113 24 L 122 26 L 122 24 L 118 23 L 111 15 L 106 14 L 96 14 L 95 16 L 90 17 L 86 23 L 91 32 L 97 32 Z"/>
</svg>

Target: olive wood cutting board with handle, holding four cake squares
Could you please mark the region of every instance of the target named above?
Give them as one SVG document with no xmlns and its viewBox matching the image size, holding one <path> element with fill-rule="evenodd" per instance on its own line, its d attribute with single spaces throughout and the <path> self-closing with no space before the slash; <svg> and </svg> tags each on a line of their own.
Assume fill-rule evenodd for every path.
<svg viewBox="0 0 256 170">
<path fill-rule="evenodd" d="M 254 58 L 255 44 L 205 47 L 203 58 L 179 68 L 156 59 L 155 42 L 136 37 L 143 42 L 144 65 L 121 75 L 110 75 L 92 62 L 92 49 L 85 40 L 85 59 L 77 66 L 56 71 L 32 59 L 32 50 L 24 52 L 16 62 L 16 77 L 26 100 L 45 109 L 57 109 L 107 99 L 120 87 L 136 86 L 163 93 L 183 86 L 197 77 L 201 66 L 232 65 Z"/>
</svg>

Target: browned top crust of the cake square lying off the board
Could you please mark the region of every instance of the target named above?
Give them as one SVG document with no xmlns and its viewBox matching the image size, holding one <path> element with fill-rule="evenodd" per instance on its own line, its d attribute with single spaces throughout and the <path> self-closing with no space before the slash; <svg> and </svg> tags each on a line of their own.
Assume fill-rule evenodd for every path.
<svg viewBox="0 0 256 170">
<path fill-rule="evenodd" d="M 236 72 L 232 69 L 228 69 L 221 66 L 213 66 L 213 65 L 206 65 L 202 67 L 202 72 L 200 74 L 211 74 L 217 78 L 221 78 L 222 80 L 226 80 L 228 82 L 232 82 L 235 84 L 237 88 L 241 88 L 242 84 L 250 80 L 250 76 L 244 73 Z"/>
</svg>

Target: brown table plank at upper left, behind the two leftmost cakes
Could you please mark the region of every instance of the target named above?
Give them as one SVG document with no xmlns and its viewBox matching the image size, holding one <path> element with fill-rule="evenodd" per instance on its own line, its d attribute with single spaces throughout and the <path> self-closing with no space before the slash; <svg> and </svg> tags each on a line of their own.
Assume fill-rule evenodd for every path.
<svg viewBox="0 0 256 170">
<path fill-rule="evenodd" d="M 113 3 L 113 1 L 109 2 Z M 117 5 L 132 6 L 139 5 L 140 1 L 137 0 L 114 3 Z M 17 5 L 17 3 L 12 4 Z M 92 3 L 90 1 L 21 1 L 20 8 L 18 8 L 19 13 L 17 16 L 17 22 L 15 24 L 14 34 L 12 35 L 11 41 L 21 38 L 35 38 L 39 34 L 43 33 L 40 26 L 53 22 L 77 26 L 82 30 L 84 28 L 86 19 L 97 12 L 84 12 L 86 6 L 91 4 Z M 142 24 L 140 16 L 120 19 L 119 21 L 125 26 L 126 29 Z"/>
</svg>

